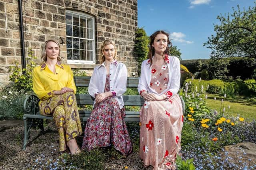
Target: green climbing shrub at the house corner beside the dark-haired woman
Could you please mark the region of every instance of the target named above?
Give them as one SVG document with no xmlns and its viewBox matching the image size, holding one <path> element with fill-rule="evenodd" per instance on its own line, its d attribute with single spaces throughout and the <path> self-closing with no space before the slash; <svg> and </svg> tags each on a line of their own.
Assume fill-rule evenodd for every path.
<svg viewBox="0 0 256 170">
<path fill-rule="evenodd" d="M 136 59 L 138 62 L 138 76 L 140 76 L 140 68 L 142 61 L 148 58 L 148 44 L 150 40 L 146 34 L 146 31 L 142 28 L 138 28 L 135 32 L 135 44 L 134 51 L 136 53 Z"/>
</svg>

